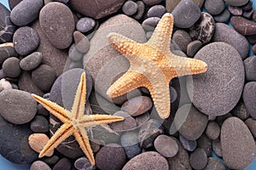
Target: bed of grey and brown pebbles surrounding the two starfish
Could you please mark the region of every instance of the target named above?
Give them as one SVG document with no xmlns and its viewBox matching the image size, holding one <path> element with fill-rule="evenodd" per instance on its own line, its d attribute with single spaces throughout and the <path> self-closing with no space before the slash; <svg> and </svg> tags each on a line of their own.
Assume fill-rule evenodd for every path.
<svg viewBox="0 0 256 170">
<path fill-rule="evenodd" d="M 245 169 L 256 154 L 256 10 L 248 0 L 9 0 L 0 3 L 0 154 L 31 170 Z M 109 32 L 147 42 L 166 12 L 173 54 L 206 73 L 170 82 L 172 112 L 160 119 L 146 88 L 109 99 L 129 63 Z M 231 23 L 233 27 L 227 25 Z M 125 121 L 88 129 L 96 165 L 73 137 L 38 152 L 61 122 L 32 99 L 71 110 L 86 71 L 89 113 Z M 224 161 L 212 157 L 212 152 Z"/>
</svg>

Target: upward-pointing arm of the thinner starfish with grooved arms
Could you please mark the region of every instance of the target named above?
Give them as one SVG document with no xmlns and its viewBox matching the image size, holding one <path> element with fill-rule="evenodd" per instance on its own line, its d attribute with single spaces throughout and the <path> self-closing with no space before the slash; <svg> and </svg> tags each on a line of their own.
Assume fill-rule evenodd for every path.
<svg viewBox="0 0 256 170">
<path fill-rule="evenodd" d="M 85 73 L 81 75 L 79 86 L 73 101 L 72 113 L 73 118 L 78 119 L 81 116 L 84 116 L 84 104 L 86 97 L 86 77 Z"/>
</svg>

